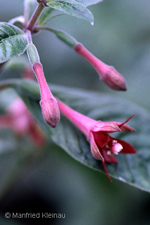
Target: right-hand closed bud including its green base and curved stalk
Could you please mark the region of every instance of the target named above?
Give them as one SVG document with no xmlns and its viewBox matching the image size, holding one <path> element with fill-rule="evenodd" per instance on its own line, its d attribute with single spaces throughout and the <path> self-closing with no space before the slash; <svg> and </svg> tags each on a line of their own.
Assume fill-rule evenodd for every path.
<svg viewBox="0 0 150 225">
<path fill-rule="evenodd" d="M 114 90 L 125 91 L 126 81 L 124 77 L 113 67 L 105 64 L 89 52 L 81 43 L 66 32 L 52 29 L 49 27 L 37 26 L 34 32 L 40 29 L 46 29 L 53 32 L 61 41 L 72 47 L 79 55 L 84 57 L 98 72 L 100 79 L 110 88 Z"/>
</svg>

